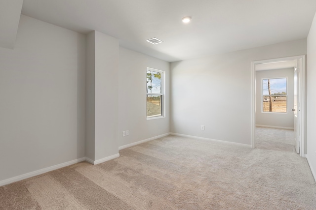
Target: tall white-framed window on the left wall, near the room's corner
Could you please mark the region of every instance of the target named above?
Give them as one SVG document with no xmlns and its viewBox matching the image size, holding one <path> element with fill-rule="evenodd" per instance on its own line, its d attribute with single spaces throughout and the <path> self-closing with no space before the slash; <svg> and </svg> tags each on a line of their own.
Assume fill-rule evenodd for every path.
<svg viewBox="0 0 316 210">
<path fill-rule="evenodd" d="M 164 117 L 164 71 L 147 68 L 147 120 Z"/>
</svg>

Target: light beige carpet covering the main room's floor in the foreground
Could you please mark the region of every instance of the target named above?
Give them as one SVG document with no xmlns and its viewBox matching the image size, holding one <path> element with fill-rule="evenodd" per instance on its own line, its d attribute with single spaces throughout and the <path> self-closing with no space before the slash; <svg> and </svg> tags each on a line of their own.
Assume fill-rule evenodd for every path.
<svg viewBox="0 0 316 210">
<path fill-rule="evenodd" d="M 0 209 L 315 210 L 316 183 L 293 151 L 167 136 L 0 187 Z"/>
</svg>

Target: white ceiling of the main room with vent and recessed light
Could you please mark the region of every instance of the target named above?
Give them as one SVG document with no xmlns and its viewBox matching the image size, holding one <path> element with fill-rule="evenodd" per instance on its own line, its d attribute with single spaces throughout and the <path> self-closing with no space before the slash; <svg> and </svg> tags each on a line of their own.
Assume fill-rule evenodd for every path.
<svg viewBox="0 0 316 210">
<path fill-rule="evenodd" d="M 316 0 L 24 0 L 21 13 L 172 62 L 306 38 L 315 12 Z"/>
</svg>

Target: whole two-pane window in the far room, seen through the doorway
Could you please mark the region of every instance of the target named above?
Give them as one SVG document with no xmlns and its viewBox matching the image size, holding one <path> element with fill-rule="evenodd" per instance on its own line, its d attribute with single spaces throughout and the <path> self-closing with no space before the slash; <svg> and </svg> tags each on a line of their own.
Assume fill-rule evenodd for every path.
<svg viewBox="0 0 316 210">
<path fill-rule="evenodd" d="M 286 113 L 287 78 L 262 80 L 262 112 Z"/>
</svg>

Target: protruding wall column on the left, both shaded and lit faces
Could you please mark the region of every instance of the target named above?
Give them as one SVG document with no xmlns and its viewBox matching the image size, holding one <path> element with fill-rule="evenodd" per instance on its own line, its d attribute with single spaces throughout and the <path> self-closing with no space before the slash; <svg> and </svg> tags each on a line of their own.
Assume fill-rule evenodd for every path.
<svg viewBox="0 0 316 210">
<path fill-rule="evenodd" d="M 119 156 L 118 39 L 92 31 L 86 52 L 85 151 L 88 161 L 97 164 Z"/>
</svg>

